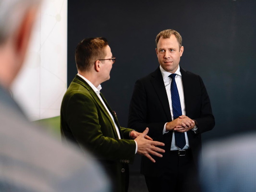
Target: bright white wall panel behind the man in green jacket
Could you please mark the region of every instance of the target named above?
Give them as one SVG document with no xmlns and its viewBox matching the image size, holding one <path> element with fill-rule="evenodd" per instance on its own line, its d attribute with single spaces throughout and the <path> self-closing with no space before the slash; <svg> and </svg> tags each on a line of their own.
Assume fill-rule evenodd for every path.
<svg viewBox="0 0 256 192">
<path fill-rule="evenodd" d="M 30 120 L 55 117 L 60 115 L 66 82 L 67 0 L 44 0 L 12 94 Z"/>
</svg>

